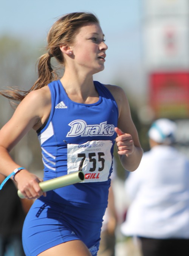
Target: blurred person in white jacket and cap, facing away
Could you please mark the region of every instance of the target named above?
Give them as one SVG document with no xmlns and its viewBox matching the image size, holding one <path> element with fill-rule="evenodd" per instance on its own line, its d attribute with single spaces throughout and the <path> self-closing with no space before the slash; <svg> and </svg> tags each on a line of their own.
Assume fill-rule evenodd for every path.
<svg viewBox="0 0 189 256">
<path fill-rule="evenodd" d="M 151 149 L 125 181 L 131 202 L 121 231 L 139 237 L 144 256 L 189 255 L 189 160 L 172 145 L 176 128 L 166 118 L 152 124 Z"/>
</svg>

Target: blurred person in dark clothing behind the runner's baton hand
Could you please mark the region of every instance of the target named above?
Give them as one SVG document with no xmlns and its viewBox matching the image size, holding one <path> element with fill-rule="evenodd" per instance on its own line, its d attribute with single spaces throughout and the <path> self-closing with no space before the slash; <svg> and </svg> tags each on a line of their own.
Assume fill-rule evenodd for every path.
<svg viewBox="0 0 189 256">
<path fill-rule="evenodd" d="M 0 174 L 0 184 L 5 176 Z M 0 191 L 0 256 L 25 256 L 22 226 L 32 200 L 20 199 L 14 182 L 9 179 Z"/>
</svg>

